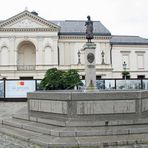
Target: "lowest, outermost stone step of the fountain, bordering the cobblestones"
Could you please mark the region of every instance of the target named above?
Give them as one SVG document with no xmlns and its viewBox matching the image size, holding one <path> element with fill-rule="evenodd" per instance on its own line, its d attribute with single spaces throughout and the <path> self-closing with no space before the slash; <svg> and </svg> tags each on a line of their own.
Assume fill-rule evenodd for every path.
<svg viewBox="0 0 148 148">
<path fill-rule="evenodd" d="M 118 136 L 83 136 L 83 137 L 56 137 L 44 135 L 24 129 L 0 125 L 0 132 L 18 138 L 35 146 L 47 147 L 115 147 L 127 145 L 148 146 L 148 134 L 132 134 Z M 34 147 L 35 147 L 34 146 Z M 142 147 L 140 147 L 142 148 Z"/>
</svg>

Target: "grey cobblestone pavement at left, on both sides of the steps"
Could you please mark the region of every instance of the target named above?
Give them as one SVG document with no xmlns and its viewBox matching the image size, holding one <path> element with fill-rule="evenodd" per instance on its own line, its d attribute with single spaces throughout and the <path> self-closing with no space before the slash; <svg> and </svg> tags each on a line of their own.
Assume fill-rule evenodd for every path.
<svg viewBox="0 0 148 148">
<path fill-rule="evenodd" d="M 11 118 L 17 112 L 26 112 L 27 102 L 0 102 L 0 119 Z M 0 148 L 41 148 L 0 133 Z"/>
</svg>

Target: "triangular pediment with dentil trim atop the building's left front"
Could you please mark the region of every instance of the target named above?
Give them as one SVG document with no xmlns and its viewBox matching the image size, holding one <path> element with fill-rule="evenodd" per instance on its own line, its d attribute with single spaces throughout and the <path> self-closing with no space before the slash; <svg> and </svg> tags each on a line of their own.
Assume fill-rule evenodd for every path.
<svg viewBox="0 0 148 148">
<path fill-rule="evenodd" d="M 18 15 L 15 15 L 2 23 L 0 23 L 0 29 L 51 29 L 58 31 L 59 26 L 49 22 L 38 15 L 32 14 L 25 10 Z"/>
</svg>

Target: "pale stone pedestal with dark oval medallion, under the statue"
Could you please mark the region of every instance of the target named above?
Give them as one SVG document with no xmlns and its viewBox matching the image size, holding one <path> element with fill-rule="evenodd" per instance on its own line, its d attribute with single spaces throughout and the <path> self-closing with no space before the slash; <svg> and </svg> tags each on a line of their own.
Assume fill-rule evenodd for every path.
<svg viewBox="0 0 148 148">
<path fill-rule="evenodd" d="M 85 50 L 85 86 L 87 91 L 96 90 L 96 62 L 95 62 L 95 43 L 86 43 Z"/>
</svg>

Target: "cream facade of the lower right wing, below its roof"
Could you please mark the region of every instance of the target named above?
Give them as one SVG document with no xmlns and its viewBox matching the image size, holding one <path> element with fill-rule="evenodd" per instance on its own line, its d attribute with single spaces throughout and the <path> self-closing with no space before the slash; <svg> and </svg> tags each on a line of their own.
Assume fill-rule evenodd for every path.
<svg viewBox="0 0 148 148">
<path fill-rule="evenodd" d="M 125 61 L 131 78 L 145 75 L 148 78 L 148 45 L 115 45 L 113 46 L 113 78 L 122 77 L 122 64 Z"/>
</svg>

